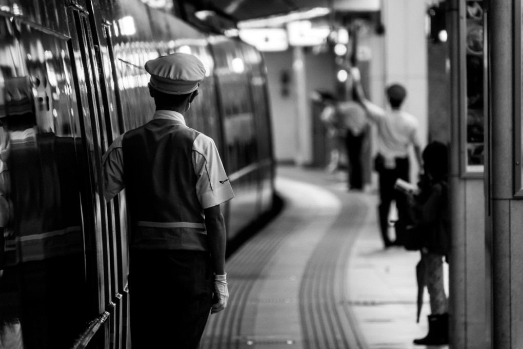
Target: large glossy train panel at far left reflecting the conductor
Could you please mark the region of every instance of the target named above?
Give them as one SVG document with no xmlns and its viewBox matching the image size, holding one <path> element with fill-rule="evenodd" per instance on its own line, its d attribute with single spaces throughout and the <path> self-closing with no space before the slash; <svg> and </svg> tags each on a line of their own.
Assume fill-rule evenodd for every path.
<svg viewBox="0 0 523 349">
<path fill-rule="evenodd" d="M 27 347 L 71 347 L 88 320 L 68 40 L 0 17 L 0 317 Z"/>
</svg>

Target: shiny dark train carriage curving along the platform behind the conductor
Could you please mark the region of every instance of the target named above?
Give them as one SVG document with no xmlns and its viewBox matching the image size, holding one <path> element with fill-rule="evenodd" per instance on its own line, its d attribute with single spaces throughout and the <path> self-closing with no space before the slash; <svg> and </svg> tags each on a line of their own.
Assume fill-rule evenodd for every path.
<svg viewBox="0 0 523 349">
<path fill-rule="evenodd" d="M 187 122 L 223 157 L 233 239 L 274 194 L 261 55 L 139 0 L 0 0 L 0 41 L 0 339 L 130 347 L 125 194 L 104 200 L 102 155 L 152 117 L 144 63 L 195 54 Z"/>
</svg>

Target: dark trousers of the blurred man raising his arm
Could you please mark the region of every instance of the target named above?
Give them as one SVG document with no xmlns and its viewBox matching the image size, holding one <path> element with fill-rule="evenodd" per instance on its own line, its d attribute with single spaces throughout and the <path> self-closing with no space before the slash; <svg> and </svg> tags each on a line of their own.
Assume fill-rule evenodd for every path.
<svg viewBox="0 0 523 349">
<path fill-rule="evenodd" d="M 378 216 L 380 219 L 381 236 L 385 246 L 390 246 L 392 242 L 388 237 L 389 229 L 389 212 L 391 202 L 396 202 L 398 217 L 406 213 L 405 195 L 394 189 L 394 183 L 397 178 L 404 179 L 408 182 L 409 163 L 407 157 L 396 157 L 395 168 L 380 168 L 380 204 L 378 206 Z M 399 231 L 396 231 L 396 244 L 403 244 L 403 237 Z"/>
</svg>

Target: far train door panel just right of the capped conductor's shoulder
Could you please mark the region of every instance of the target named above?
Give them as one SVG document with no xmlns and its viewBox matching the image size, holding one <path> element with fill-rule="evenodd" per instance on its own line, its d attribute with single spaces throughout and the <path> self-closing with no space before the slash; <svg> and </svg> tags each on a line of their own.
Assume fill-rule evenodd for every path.
<svg viewBox="0 0 523 349">
<path fill-rule="evenodd" d="M 258 216 L 258 151 L 255 115 L 243 55 L 233 40 L 210 37 L 223 121 L 225 170 L 234 188 L 228 239 Z"/>
</svg>

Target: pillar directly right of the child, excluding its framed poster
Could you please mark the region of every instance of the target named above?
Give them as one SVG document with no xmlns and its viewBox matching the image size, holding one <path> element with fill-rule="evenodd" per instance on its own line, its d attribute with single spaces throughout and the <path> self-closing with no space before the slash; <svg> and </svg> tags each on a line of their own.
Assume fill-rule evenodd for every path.
<svg viewBox="0 0 523 349">
<path fill-rule="evenodd" d="M 460 41 L 461 0 L 448 2 L 447 24 L 450 54 L 450 212 L 451 253 L 449 264 L 451 348 L 488 348 L 485 195 L 484 181 L 461 173 L 461 128 L 467 124 L 465 50 Z M 485 98 L 488 94 L 485 93 Z"/>
</svg>

